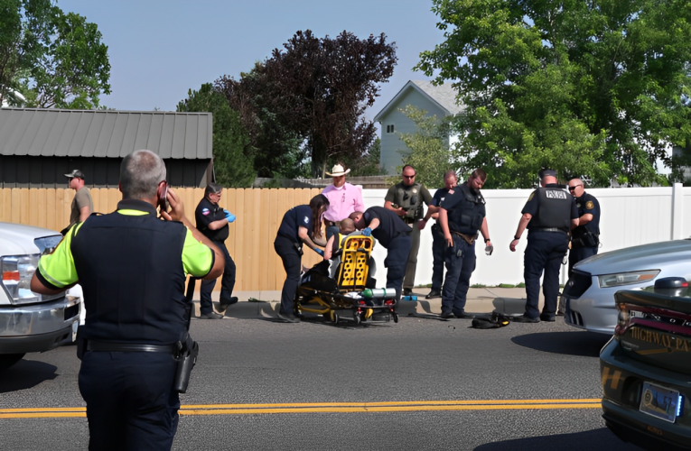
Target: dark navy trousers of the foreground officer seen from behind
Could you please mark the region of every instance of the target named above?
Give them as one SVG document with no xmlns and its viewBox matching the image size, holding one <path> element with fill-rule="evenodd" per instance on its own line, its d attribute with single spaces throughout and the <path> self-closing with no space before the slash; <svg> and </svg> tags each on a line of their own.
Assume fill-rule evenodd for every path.
<svg viewBox="0 0 691 451">
<path fill-rule="evenodd" d="M 166 353 L 85 353 L 79 392 L 87 403 L 89 449 L 171 449 L 180 409 L 176 365 Z"/>
</svg>

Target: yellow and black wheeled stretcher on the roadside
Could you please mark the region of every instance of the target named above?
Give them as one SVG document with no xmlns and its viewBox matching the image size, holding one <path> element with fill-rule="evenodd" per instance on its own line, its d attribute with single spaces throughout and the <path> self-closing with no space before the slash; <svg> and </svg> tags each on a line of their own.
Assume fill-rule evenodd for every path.
<svg viewBox="0 0 691 451">
<path fill-rule="evenodd" d="M 310 312 L 338 324 L 342 318 L 362 321 L 398 322 L 394 290 L 376 290 L 369 276 L 374 239 L 354 235 L 345 238 L 335 278 L 329 277 L 329 262 L 322 262 L 303 274 L 294 299 L 294 314 Z M 337 257 L 338 255 L 336 255 Z M 374 290 L 373 290 L 374 289 Z"/>
</svg>

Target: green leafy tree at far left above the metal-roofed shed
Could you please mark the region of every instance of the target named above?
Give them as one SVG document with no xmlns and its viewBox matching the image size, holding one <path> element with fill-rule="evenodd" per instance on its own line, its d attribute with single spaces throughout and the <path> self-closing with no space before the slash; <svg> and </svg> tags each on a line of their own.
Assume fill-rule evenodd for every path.
<svg viewBox="0 0 691 451">
<path fill-rule="evenodd" d="M 51 0 L 0 0 L 0 100 L 41 108 L 98 107 L 110 93 L 107 46 L 95 23 Z"/>
</svg>

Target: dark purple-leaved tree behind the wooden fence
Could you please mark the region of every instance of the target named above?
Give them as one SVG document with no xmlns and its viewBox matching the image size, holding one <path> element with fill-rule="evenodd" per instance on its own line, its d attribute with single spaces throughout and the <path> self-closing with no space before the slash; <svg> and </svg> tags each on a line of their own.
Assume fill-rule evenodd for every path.
<svg viewBox="0 0 691 451">
<path fill-rule="evenodd" d="M 285 156 L 302 153 L 309 172 L 323 176 L 329 161 L 357 160 L 367 153 L 376 128 L 364 112 L 396 61 L 396 46 L 383 33 L 360 40 L 351 32 L 317 38 L 306 30 L 238 81 L 224 77 L 216 86 L 243 116 L 260 175 L 275 171 Z"/>
</svg>

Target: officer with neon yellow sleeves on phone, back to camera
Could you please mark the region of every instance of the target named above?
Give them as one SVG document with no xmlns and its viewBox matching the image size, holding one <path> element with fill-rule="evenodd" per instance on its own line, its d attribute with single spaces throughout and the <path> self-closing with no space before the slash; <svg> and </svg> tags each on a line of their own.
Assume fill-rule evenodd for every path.
<svg viewBox="0 0 691 451">
<path fill-rule="evenodd" d="M 177 368 L 193 343 L 185 277 L 215 279 L 225 262 L 184 216 L 154 152 L 123 159 L 120 190 L 117 211 L 90 216 L 42 256 L 31 289 L 56 294 L 79 281 L 84 290 L 79 392 L 89 449 L 170 449 L 184 390 L 175 388 Z M 161 220 L 156 205 L 166 200 Z"/>
</svg>

